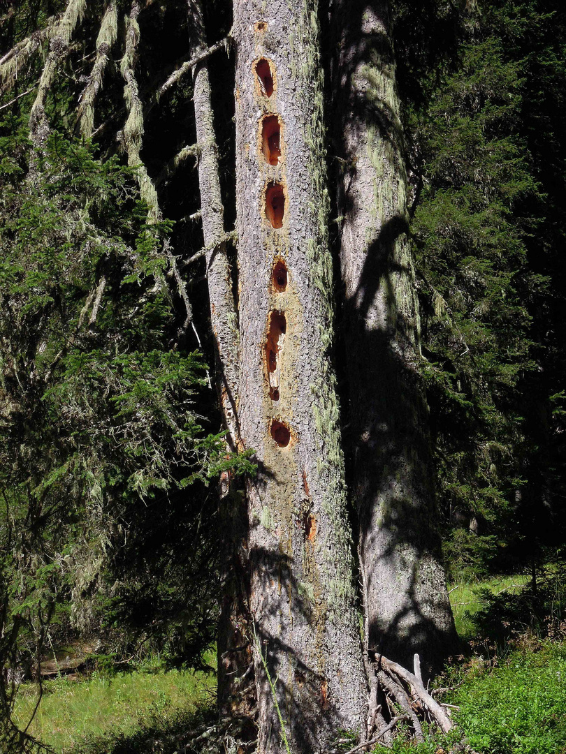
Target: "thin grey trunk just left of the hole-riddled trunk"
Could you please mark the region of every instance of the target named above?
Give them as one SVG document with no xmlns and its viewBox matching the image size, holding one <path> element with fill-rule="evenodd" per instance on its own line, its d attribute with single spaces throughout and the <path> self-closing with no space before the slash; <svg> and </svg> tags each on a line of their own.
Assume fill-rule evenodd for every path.
<svg viewBox="0 0 566 754">
<path fill-rule="evenodd" d="M 207 45 L 201 0 L 189 0 L 188 7 L 191 20 L 190 51 L 191 57 L 196 57 Z M 232 273 L 226 256 L 224 209 L 206 60 L 195 68 L 193 102 L 216 384 L 227 431 L 226 440 L 229 447 L 236 450 L 241 449 L 237 414 L 239 335 Z M 249 688 L 245 693 L 240 681 L 251 664 L 252 653 L 246 577 L 248 513 L 244 495 L 229 484 L 228 478 L 221 481 L 220 498 L 223 588 L 218 626 L 218 703 L 221 714 L 248 714 L 254 697 L 249 693 Z"/>
</svg>

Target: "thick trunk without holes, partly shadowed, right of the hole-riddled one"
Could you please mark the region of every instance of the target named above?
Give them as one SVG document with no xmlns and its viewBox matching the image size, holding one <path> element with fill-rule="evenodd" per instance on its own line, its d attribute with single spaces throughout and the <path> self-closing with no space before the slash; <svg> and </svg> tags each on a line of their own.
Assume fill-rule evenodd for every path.
<svg viewBox="0 0 566 754">
<path fill-rule="evenodd" d="M 349 474 L 365 633 L 369 649 L 401 664 L 418 652 L 430 670 L 453 648 L 454 624 L 417 369 L 418 305 L 388 7 L 383 0 L 340 0 L 334 13 Z"/>
</svg>

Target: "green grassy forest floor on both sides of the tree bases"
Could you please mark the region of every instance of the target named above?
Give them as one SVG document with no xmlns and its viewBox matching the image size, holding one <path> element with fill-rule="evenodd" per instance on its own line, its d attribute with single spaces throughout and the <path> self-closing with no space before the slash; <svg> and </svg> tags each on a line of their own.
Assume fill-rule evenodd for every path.
<svg viewBox="0 0 566 754">
<path fill-rule="evenodd" d="M 478 754 L 566 754 L 566 623 L 558 616 L 546 639 L 514 624 L 525 583 L 515 576 L 451 585 L 463 654 L 435 685 L 448 689 L 438 699 L 452 705 L 457 726 L 447 737 L 430 731 L 418 746 L 398 740 L 395 754 L 448 754 L 462 740 Z M 45 682 L 29 731 L 57 754 L 172 754 L 198 722 L 214 718 L 214 655 L 205 660 L 210 673 L 166 672 L 154 661 L 133 673 Z M 34 706 L 34 685 L 23 685 L 20 725 Z"/>
</svg>

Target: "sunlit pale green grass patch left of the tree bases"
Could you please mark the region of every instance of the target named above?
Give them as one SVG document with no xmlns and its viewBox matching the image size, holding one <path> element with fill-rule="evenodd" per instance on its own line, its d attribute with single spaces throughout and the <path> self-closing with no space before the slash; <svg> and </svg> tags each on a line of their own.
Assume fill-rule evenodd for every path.
<svg viewBox="0 0 566 754">
<path fill-rule="evenodd" d="M 36 693 L 34 684 L 20 688 L 14 718 L 24 728 L 35 706 Z M 134 673 L 93 673 L 84 681 L 62 676 L 45 682 L 29 732 L 57 754 L 74 754 L 83 750 L 89 740 L 106 737 L 106 748 L 95 747 L 106 754 L 114 750 L 111 740 L 135 737 L 142 729 L 165 731 L 178 727 L 181 721 L 194 717 L 198 709 L 210 706 L 215 693 L 212 673 L 165 673 L 151 665 Z"/>
</svg>

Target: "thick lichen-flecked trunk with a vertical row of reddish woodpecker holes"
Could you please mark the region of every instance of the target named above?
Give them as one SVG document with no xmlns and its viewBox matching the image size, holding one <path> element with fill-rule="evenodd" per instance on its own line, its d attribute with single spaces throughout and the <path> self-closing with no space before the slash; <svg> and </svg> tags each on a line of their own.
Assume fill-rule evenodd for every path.
<svg viewBox="0 0 566 754">
<path fill-rule="evenodd" d="M 361 731 L 365 673 L 352 584 L 312 2 L 235 3 L 240 428 L 248 487 L 260 752 Z M 276 679 L 276 680 L 275 680 Z"/>
</svg>

